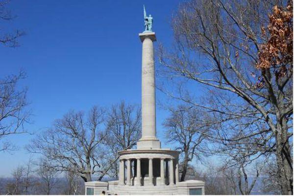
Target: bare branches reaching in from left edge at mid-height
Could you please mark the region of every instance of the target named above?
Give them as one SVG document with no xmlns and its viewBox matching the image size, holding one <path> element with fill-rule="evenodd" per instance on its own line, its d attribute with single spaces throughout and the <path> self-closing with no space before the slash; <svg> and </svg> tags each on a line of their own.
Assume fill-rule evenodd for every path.
<svg viewBox="0 0 294 196">
<path fill-rule="evenodd" d="M 27 132 L 25 123 L 29 120 L 29 111 L 26 110 L 26 89 L 19 90 L 18 83 L 25 78 L 25 73 L 10 75 L 0 79 L 0 140 L 3 146 L 0 151 L 12 150 L 10 142 L 3 141 L 9 135 Z"/>
</svg>

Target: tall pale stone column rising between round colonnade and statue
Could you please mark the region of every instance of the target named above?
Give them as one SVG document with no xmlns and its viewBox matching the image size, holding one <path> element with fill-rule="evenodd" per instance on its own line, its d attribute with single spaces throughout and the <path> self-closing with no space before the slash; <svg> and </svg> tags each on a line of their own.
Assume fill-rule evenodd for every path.
<svg viewBox="0 0 294 196">
<path fill-rule="evenodd" d="M 153 42 L 155 33 L 145 31 L 139 34 L 142 47 L 142 138 L 137 143 L 138 149 L 160 148 L 156 138 L 155 126 L 155 75 Z"/>
</svg>

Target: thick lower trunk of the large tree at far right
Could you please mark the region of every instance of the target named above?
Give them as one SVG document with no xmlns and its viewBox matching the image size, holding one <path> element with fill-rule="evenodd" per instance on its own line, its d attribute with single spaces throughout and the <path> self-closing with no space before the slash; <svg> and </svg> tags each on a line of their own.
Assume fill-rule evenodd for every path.
<svg viewBox="0 0 294 196">
<path fill-rule="evenodd" d="M 282 195 L 293 195 L 293 167 L 288 131 L 278 127 L 276 134 L 276 161 Z"/>
</svg>

